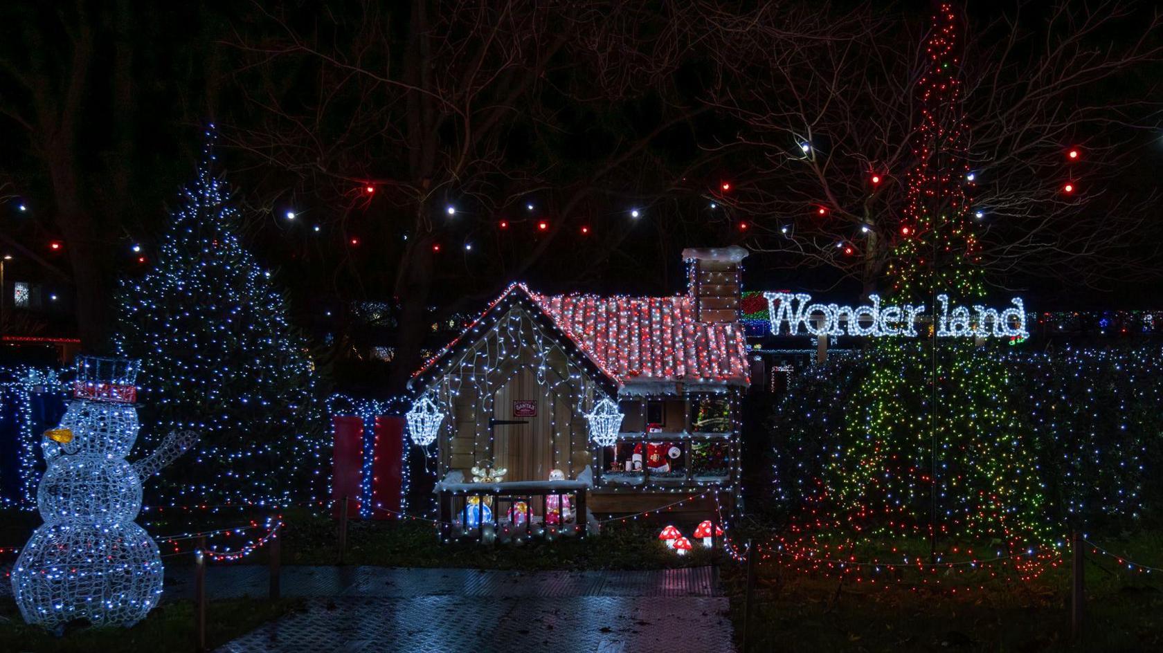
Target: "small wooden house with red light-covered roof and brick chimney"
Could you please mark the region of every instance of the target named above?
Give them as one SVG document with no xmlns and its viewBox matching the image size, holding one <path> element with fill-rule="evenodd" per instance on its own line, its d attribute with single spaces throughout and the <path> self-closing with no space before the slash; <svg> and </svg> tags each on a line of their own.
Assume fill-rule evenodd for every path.
<svg viewBox="0 0 1163 653">
<path fill-rule="evenodd" d="M 593 515 L 735 504 L 749 379 L 747 250 L 687 249 L 686 294 L 509 286 L 415 373 L 407 414 L 435 457 L 444 539 L 584 536 Z"/>
</svg>

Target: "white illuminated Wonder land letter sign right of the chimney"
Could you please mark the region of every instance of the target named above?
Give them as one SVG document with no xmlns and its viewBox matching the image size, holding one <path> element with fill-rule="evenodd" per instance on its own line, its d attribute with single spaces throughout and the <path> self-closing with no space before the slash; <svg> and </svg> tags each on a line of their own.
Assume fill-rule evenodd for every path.
<svg viewBox="0 0 1163 653">
<path fill-rule="evenodd" d="M 834 303 L 812 303 L 807 293 L 763 293 L 768 299 L 771 332 L 779 333 L 779 325 L 787 323 L 787 332 L 799 333 L 800 326 L 813 336 L 908 336 L 915 337 L 916 317 L 925 314 L 925 304 L 880 306 L 880 297 L 869 295 L 871 304 L 850 307 Z M 949 295 L 937 295 L 941 304 L 936 316 L 937 337 L 942 338 L 1028 338 L 1026 307 L 1021 299 L 1009 300 L 1013 308 L 998 310 L 973 304 L 949 308 Z"/>
</svg>

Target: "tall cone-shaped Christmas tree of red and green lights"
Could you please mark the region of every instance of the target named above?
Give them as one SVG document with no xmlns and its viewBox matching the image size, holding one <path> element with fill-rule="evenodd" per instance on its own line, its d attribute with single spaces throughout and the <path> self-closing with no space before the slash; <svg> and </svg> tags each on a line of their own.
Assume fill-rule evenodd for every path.
<svg viewBox="0 0 1163 653">
<path fill-rule="evenodd" d="M 959 22 L 942 3 L 926 43 L 915 165 L 886 304 L 932 309 L 941 294 L 965 304 L 985 297 L 968 196 Z M 873 553 L 885 562 L 1000 559 L 1018 575 L 1035 574 L 1061 536 L 1046 517 L 1036 443 L 1023 433 L 1003 357 L 970 339 L 934 337 L 932 328 L 920 342 L 877 343 L 841 397 L 840 446 L 782 538 L 783 554 L 816 567 Z"/>
</svg>

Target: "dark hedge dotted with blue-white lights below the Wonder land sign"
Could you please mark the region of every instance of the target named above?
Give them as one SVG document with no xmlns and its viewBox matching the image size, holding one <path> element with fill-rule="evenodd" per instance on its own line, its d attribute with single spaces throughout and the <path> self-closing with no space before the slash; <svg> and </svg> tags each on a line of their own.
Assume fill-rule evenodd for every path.
<svg viewBox="0 0 1163 653">
<path fill-rule="evenodd" d="M 986 356 L 984 352 L 982 356 Z M 1057 353 L 992 352 L 1007 372 L 1007 385 L 998 388 L 1003 410 L 1014 416 L 1015 449 L 1028 457 L 1023 468 L 1035 493 L 1042 529 L 1065 532 L 1073 528 L 1111 532 L 1163 517 L 1163 350 L 1118 347 L 1068 350 Z M 773 497 L 784 514 L 819 510 L 821 488 L 854 482 L 842 461 L 864 445 L 852 443 L 871 436 L 858 422 L 869 407 L 856 393 L 873 369 L 899 365 L 879 350 L 863 356 L 829 359 L 797 376 L 770 418 L 773 462 Z M 905 374 L 908 366 L 897 368 Z M 915 372 L 915 371 L 914 371 Z M 922 379 L 918 379 L 918 382 Z M 923 390 L 923 387 L 921 388 Z M 923 392 L 914 392 L 915 421 L 929 415 Z M 939 415 L 958 412 L 954 397 L 943 396 Z M 918 437 L 923 437 L 922 430 Z M 968 437 L 966 437 L 968 439 Z M 873 438 L 875 442 L 875 438 Z M 920 454 L 926 443 L 918 443 Z M 957 446 L 961 451 L 961 445 Z M 949 462 L 949 461 L 947 461 Z M 966 460 L 968 464 L 976 464 Z M 923 464 L 923 461 L 921 461 Z M 854 462 L 855 466 L 855 462 Z M 952 474 L 955 466 L 946 467 Z M 883 467 L 873 468 L 889 482 Z M 939 476 L 946 510 L 968 501 L 972 493 Z M 918 483 L 912 490 L 916 522 L 927 522 L 927 495 Z M 909 490 L 901 489 L 901 497 Z M 863 503 L 880 517 L 875 522 L 899 523 L 898 512 L 885 512 L 885 497 L 865 494 Z M 961 531 L 949 536 L 963 536 Z"/>
</svg>

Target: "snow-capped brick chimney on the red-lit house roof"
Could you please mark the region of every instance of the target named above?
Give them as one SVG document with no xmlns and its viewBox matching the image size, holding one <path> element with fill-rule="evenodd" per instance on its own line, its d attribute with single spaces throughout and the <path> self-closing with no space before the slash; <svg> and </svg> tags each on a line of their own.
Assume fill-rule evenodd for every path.
<svg viewBox="0 0 1163 653">
<path fill-rule="evenodd" d="M 687 292 L 694 300 L 695 318 L 700 322 L 737 322 L 742 261 L 747 250 L 729 247 L 687 247 Z"/>
</svg>

